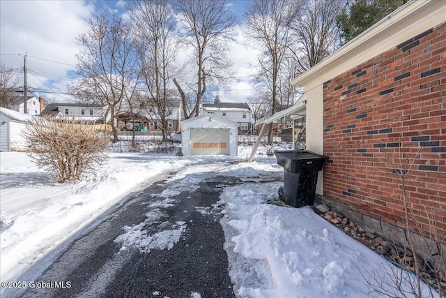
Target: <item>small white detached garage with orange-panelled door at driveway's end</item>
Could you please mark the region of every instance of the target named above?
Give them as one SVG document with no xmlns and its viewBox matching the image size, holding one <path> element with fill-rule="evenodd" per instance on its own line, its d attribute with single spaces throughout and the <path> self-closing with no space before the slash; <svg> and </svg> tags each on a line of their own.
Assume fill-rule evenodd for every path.
<svg viewBox="0 0 446 298">
<path fill-rule="evenodd" d="M 181 144 L 185 156 L 237 156 L 237 123 L 215 114 L 204 114 L 181 122 Z"/>
</svg>

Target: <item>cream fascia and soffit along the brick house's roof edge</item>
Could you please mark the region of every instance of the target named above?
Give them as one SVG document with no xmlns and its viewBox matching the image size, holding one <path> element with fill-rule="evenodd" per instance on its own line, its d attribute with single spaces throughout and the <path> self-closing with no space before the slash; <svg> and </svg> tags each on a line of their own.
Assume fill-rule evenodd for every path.
<svg viewBox="0 0 446 298">
<path fill-rule="evenodd" d="M 291 84 L 314 87 L 445 22 L 446 1 L 409 1 L 353 38 Z"/>
</svg>

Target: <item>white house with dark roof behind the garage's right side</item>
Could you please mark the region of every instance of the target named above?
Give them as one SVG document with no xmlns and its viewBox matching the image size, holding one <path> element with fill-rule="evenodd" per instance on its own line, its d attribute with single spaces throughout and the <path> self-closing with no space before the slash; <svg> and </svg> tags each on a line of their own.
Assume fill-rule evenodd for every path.
<svg viewBox="0 0 446 298">
<path fill-rule="evenodd" d="M 252 132 L 254 117 L 247 103 L 205 103 L 201 114 L 215 114 L 238 124 L 238 133 Z"/>
</svg>

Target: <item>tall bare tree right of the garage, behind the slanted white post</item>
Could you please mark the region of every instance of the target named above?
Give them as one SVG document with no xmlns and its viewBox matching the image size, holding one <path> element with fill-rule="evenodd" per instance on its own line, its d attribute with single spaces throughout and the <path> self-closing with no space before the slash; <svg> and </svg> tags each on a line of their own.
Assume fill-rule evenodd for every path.
<svg viewBox="0 0 446 298">
<path fill-rule="evenodd" d="M 279 72 L 293 44 L 291 25 L 300 15 L 300 3 L 296 0 L 254 0 L 247 4 L 245 24 L 249 38 L 264 50 L 258 59 L 259 76 L 270 91 L 271 112 L 277 112 Z M 268 133 L 272 144 L 272 126 Z"/>
</svg>

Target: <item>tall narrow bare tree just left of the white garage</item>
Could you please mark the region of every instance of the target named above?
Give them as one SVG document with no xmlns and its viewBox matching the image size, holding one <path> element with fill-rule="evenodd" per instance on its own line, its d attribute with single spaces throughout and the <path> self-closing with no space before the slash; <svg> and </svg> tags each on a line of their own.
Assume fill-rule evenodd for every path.
<svg viewBox="0 0 446 298">
<path fill-rule="evenodd" d="M 130 17 L 134 22 L 134 44 L 141 66 L 141 81 L 146 91 L 145 107 L 157 121 L 163 142 L 169 137 L 168 119 L 171 107 L 169 89 L 177 47 L 174 38 L 174 13 L 165 0 L 132 1 Z"/>
</svg>

